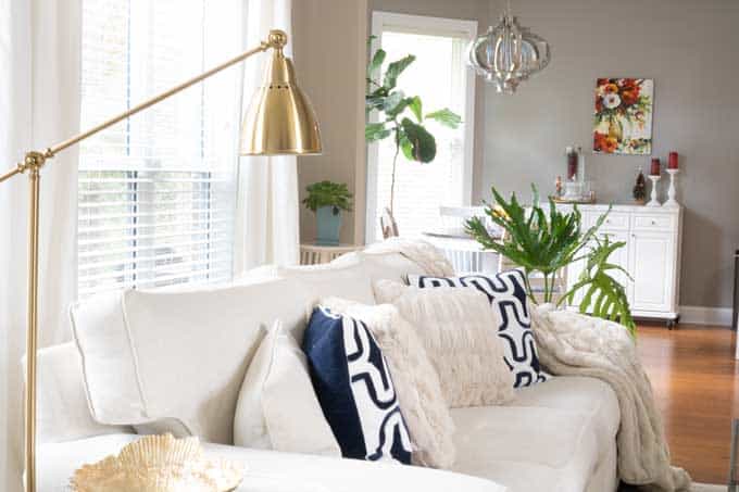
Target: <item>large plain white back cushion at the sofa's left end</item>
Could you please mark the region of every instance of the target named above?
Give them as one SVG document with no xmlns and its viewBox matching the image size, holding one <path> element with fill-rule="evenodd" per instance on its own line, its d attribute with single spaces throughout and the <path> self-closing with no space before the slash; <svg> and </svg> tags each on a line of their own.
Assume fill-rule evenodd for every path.
<svg viewBox="0 0 739 492">
<path fill-rule="evenodd" d="M 73 308 L 96 420 L 176 420 L 193 436 L 233 442 L 247 366 L 263 330 L 302 330 L 310 293 L 273 280 L 191 292 L 126 291 Z M 203 370 L 208 368 L 208 370 Z"/>
</svg>

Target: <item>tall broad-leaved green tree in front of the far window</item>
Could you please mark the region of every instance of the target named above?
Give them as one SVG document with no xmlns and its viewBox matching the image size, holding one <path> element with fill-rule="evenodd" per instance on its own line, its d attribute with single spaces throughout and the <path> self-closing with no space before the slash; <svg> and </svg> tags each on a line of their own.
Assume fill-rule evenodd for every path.
<svg viewBox="0 0 739 492">
<path fill-rule="evenodd" d="M 372 42 L 374 38 L 374 36 L 371 37 L 369 41 Z M 389 206 L 390 214 L 392 214 L 396 169 L 401 151 L 409 161 L 419 163 L 434 161 L 436 138 L 426 129 L 426 123 L 433 121 L 449 128 L 458 128 L 462 118 L 449 109 L 424 113 L 424 104 L 418 96 L 408 96 L 398 89 L 398 78 L 416 58 L 409 54 L 389 63 L 383 75 L 380 68 L 386 58 L 387 52 L 378 49 L 372 55 L 367 66 L 365 109 L 367 116 L 372 112 L 377 112 L 377 122 L 366 124 L 364 137 L 367 142 L 392 138 L 394 143 Z"/>
</svg>

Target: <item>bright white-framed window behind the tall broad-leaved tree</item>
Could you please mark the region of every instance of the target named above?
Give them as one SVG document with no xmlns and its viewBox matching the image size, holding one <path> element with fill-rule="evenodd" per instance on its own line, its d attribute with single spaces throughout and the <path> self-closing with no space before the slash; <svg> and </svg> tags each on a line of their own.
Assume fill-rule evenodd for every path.
<svg viewBox="0 0 739 492">
<path fill-rule="evenodd" d="M 386 66 L 406 54 L 416 55 L 399 79 L 401 90 L 421 96 L 425 111 L 449 108 L 462 116 L 456 130 L 428 123 L 437 140 L 437 156 L 430 164 L 409 162 L 401 153 L 394 216 L 401 235 L 417 235 L 438 228 L 439 206 L 469 205 L 472 201 L 475 77 L 464 58 L 477 34 L 477 23 L 375 12 L 373 34 L 388 53 Z M 390 202 L 393 154 L 392 139 L 368 149 L 368 242 L 381 239 L 378 217 Z"/>
</svg>

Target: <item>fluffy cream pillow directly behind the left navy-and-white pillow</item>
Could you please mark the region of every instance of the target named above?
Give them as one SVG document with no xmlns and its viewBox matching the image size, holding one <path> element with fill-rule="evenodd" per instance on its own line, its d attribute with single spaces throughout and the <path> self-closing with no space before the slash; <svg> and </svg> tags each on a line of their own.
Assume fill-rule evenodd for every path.
<svg viewBox="0 0 739 492">
<path fill-rule="evenodd" d="M 454 422 L 439 376 L 415 329 L 390 305 L 364 305 L 337 298 L 321 301 L 331 312 L 363 321 L 390 366 L 390 376 L 411 434 L 416 465 L 450 468 L 454 464 Z"/>
</svg>

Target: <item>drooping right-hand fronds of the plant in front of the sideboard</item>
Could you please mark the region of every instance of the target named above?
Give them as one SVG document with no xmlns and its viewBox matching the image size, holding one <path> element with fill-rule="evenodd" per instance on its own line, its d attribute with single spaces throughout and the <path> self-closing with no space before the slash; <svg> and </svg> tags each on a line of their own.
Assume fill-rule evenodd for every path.
<svg viewBox="0 0 739 492">
<path fill-rule="evenodd" d="M 577 282 L 565 293 L 560 303 L 565 300 L 573 303 L 575 293 L 580 289 L 585 290 L 580 301 L 580 313 L 590 313 L 593 316 L 624 325 L 631 336 L 636 336 L 637 325 L 631 317 L 631 310 L 626 297 L 626 289 L 615 278 L 609 275 L 610 272 L 621 272 L 631 278 L 623 267 L 609 263 L 609 257 L 619 248 L 626 245 L 625 242 L 611 242 L 609 237 L 603 239 L 594 237 L 596 244 L 590 247 L 587 255 L 586 266 L 580 274 Z"/>
</svg>

